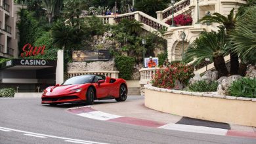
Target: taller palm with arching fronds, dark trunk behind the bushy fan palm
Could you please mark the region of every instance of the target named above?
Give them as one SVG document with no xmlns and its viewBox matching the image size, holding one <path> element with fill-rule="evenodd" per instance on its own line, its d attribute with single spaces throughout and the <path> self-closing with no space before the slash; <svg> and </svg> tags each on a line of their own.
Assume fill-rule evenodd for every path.
<svg viewBox="0 0 256 144">
<path fill-rule="evenodd" d="M 226 33 L 229 34 L 236 26 L 238 15 L 239 14 L 236 14 L 236 16 L 234 16 L 234 9 L 230 11 L 227 17 L 215 12 L 213 16 L 204 16 L 200 22 L 215 22 L 221 24 L 226 28 Z M 228 52 L 230 53 L 230 75 L 235 75 L 238 73 L 239 69 L 238 53 L 232 51 L 231 47 Z"/>
</svg>

